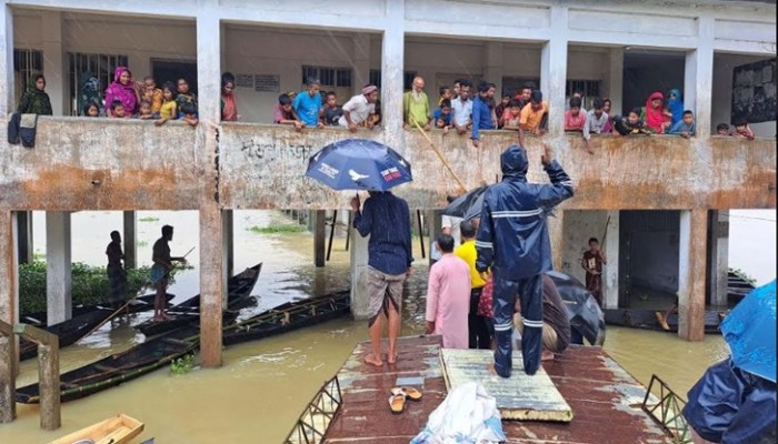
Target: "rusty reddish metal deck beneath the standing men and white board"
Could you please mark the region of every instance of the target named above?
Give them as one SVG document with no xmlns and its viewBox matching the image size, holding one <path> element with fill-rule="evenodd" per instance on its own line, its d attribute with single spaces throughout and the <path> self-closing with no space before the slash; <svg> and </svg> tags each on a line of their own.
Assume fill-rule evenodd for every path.
<svg viewBox="0 0 778 444">
<path fill-rule="evenodd" d="M 325 443 L 408 444 L 447 394 L 440 344 L 440 336 L 402 337 L 397 364 L 383 369 L 365 364 L 370 344 L 357 344 L 338 373 L 343 404 Z M 600 347 L 572 346 L 543 367 L 575 417 L 570 423 L 503 421 L 508 443 L 671 442 L 640 410 L 646 389 Z M 398 382 L 419 387 L 425 397 L 392 415 L 389 391 Z"/>
</svg>

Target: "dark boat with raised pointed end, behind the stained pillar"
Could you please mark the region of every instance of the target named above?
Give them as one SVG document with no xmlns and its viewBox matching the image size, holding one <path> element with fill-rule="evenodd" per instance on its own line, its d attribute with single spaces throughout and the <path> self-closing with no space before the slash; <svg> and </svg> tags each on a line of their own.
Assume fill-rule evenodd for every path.
<svg viewBox="0 0 778 444">
<path fill-rule="evenodd" d="M 251 297 L 251 291 L 257 284 L 257 280 L 259 279 L 259 273 L 261 271 L 262 264 L 259 263 L 230 278 L 227 283 L 228 302 L 223 317 L 223 322 L 226 324 L 231 323 L 238 317 L 237 310 L 257 303 L 257 300 Z M 143 333 L 147 337 L 152 337 L 198 322 L 200 320 L 200 295 L 198 294 L 181 302 L 180 304 L 173 305 L 167 311 L 167 313 L 171 316 L 169 320 L 149 320 L 142 324 L 136 325 L 136 330 Z"/>
</svg>

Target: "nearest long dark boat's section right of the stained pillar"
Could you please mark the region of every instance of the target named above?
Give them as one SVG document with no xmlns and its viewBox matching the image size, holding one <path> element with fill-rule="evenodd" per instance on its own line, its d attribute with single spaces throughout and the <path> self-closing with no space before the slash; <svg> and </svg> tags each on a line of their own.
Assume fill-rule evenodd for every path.
<svg viewBox="0 0 778 444">
<path fill-rule="evenodd" d="M 288 302 L 223 329 L 222 343 L 233 345 L 256 341 L 349 314 L 350 292 L 339 292 L 305 301 Z"/>
</svg>

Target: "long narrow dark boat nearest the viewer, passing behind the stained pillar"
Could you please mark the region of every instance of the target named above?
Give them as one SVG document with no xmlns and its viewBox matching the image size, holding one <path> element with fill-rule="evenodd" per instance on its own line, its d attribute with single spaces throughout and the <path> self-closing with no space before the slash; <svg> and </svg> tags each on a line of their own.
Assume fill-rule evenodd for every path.
<svg viewBox="0 0 778 444">
<path fill-rule="evenodd" d="M 349 292 L 338 292 L 278 305 L 222 329 L 225 345 L 290 332 L 349 313 Z M 60 400 L 78 400 L 151 373 L 200 346 L 199 322 L 163 333 L 132 349 L 60 375 Z M 17 402 L 40 402 L 38 384 L 17 389 Z"/>
</svg>

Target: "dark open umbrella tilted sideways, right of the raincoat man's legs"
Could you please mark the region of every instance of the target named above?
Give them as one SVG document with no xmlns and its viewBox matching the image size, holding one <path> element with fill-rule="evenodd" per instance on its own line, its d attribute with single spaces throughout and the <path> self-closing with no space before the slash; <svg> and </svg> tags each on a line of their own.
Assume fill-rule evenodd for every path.
<svg viewBox="0 0 778 444">
<path fill-rule="evenodd" d="M 597 300 L 576 278 L 558 271 L 549 271 L 557 285 L 559 295 L 565 301 L 570 326 L 586 337 L 591 345 L 602 345 L 605 342 L 605 314 Z"/>
</svg>

